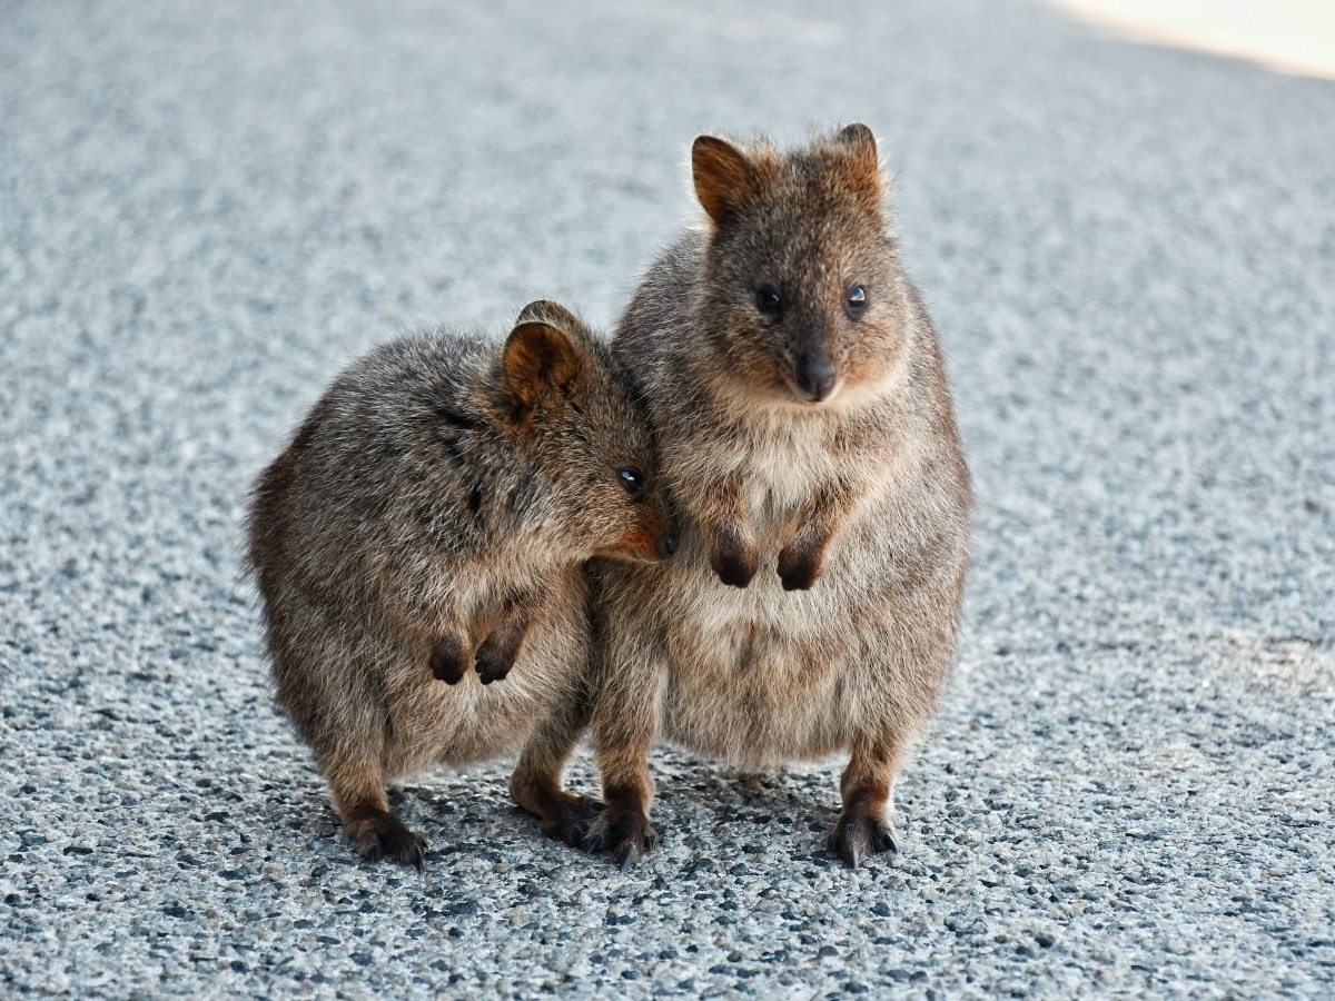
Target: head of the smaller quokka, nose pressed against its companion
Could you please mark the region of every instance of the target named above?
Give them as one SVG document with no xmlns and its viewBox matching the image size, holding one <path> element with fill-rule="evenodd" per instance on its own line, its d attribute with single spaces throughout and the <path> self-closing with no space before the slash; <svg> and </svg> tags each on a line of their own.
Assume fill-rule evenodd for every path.
<svg viewBox="0 0 1335 1001">
<path fill-rule="evenodd" d="M 542 468 L 525 498 L 575 558 L 654 562 L 677 551 L 649 420 L 607 346 L 569 310 L 530 303 L 506 340 L 510 420 Z M 522 487 L 521 487 L 522 490 Z"/>
</svg>

